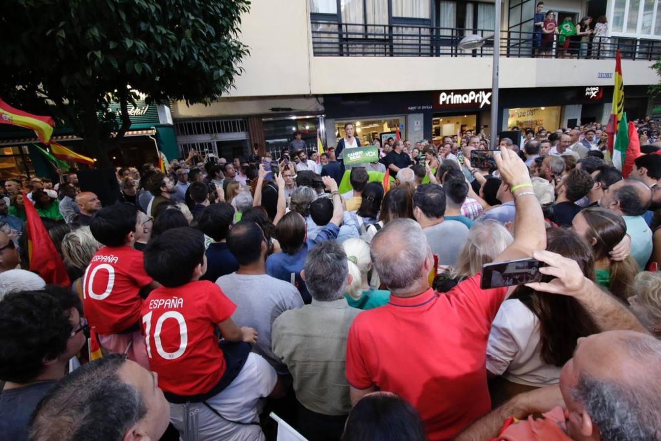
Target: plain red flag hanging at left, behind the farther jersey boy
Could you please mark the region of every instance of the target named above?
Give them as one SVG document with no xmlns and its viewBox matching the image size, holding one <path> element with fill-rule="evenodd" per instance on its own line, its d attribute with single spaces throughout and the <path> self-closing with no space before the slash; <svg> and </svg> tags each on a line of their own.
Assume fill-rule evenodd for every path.
<svg viewBox="0 0 661 441">
<path fill-rule="evenodd" d="M 25 227 L 28 229 L 28 256 L 30 271 L 36 271 L 47 284 L 69 286 L 69 276 L 64 262 L 60 257 L 44 223 L 42 223 L 36 208 L 23 192 L 25 204 Z"/>
</svg>

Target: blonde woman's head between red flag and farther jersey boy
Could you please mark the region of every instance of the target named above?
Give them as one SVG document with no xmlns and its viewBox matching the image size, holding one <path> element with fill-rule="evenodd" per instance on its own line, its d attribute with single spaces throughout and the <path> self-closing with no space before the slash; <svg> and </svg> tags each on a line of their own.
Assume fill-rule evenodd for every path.
<svg viewBox="0 0 661 441">
<path fill-rule="evenodd" d="M 92 235 L 89 226 L 77 228 L 62 239 L 62 257 L 69 277 L 74 280 L 71 287 L 78 296 L 83 296 L 82 278 L 85 268 L 102 246 Z"/>
</svg>

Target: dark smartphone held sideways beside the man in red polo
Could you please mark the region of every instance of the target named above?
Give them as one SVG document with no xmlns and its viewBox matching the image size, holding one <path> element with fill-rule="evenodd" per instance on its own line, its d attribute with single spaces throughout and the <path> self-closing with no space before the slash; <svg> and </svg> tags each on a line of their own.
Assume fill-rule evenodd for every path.
<svg viewBox="0 0 661 441">
<path fill-rule="evenodd" d="M 480 288 L 499 288 L 515 286 L 529 282 L 539 282 L 543 276 L 539 268 L 544 266 L 537 259 L 518 259 L 516 261 L 487 263 L 482 266 Z"/>
</svg>

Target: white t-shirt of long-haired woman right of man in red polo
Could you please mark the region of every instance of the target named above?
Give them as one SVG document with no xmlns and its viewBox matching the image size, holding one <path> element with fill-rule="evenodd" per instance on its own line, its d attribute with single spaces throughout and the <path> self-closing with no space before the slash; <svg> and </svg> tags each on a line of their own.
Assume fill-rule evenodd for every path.
<svg viewBox="0 0 661 441">
<path fill-rule="evenodd" d="M 541 359 L 539 319 L 518 299 L 500 305 L 486 346 L 486 370 L 512 383 L 555 384 L 562 368 Z"/>
</svg>

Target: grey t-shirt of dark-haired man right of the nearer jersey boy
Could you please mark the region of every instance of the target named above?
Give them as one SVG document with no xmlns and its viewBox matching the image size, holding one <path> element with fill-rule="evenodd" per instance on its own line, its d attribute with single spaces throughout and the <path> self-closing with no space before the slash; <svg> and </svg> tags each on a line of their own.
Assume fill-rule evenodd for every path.
<svg viewBox="0 0 661 441">
<path fill-rule="evenodd" d="M 271 326 L 284 311 L 303 306 L 296 287 L 267 274 L 236 272 L 218 278 L 215 283 L 237 305 L 231 317 L 234 323 L 257 330 L 254 352 L 264 357 L 278 374 L 287 374 L 287 366 L 271 350 Z"/>
</svg>

